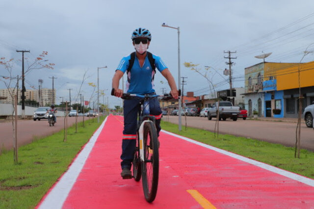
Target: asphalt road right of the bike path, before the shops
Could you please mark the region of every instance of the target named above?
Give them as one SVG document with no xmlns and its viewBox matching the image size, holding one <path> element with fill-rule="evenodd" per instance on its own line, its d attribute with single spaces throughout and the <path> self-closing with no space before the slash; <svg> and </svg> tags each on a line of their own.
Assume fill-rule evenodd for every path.
<svg viewBox="0 0 314 209">
<path fill-rule="evenodd" d="M 167 120 L 168 116 L 163 116 L 162 120 Z M 178 124 L 178 116 L 169 116 L 169 122 Z M 187 116 L 187 126 L 214 131 L 216 118 L 208 120 L 207 117 Z M 182 128 L 185 125 L 185 118 L 182 116 Z M 239 137 L 249 137 L 272 143 L 284 144 L 286 146 L 295 146 L 296 122 L 282 121 L 260 121 L 243 120 L 237 121 L 227 119 L 219 121 L 219 133 L 230 134 Z M 313 128 L 307 128 L 304 120 L 301 123 L 301 148 L 314 151 L 314 131 Z"/>
</svg>

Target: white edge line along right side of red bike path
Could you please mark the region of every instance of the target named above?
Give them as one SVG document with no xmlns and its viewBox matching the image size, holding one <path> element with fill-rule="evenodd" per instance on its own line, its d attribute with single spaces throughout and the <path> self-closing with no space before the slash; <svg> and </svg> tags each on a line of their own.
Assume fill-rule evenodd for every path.
<svg viewBox="0 0 314 209">
<path fill-rule="evenodd" d="M 302 182 L 306 185 L 309 185 L 309 186 L 314 186 L 314 180 L 313 179 L 310 179 L 310 178 L 307 178 L 307 177 L 304 177 L 304 176 L 300 176 L 298 174 L 295 174 L 295 173 L 292 173 L 292 172 L 289 172 L 287 170 L 283 170 L 283 169 L 280 169 L 278 167 L 274 167 L 272 165 L 269 165 L 269 164 L 266 164 L 266 163 L 261 163 L 261 162 L 258 162 L 258 161 L 254 161 L 252 159 L 249 159 L 249 158 L 246 158 L 246 157 L 243 157 L 241 155 L 237 155 L 235 153 L 231 153 L 231 152 L 228 152 L 226 150 L 223 150 L 223 149 L 219 149 L 217 147 L 213 147 L 213 146 L 210 146 L 208 144 L 204 144 L 202 142 L 199 142 L 199 141 L 195 141 L 193 139 L 189 139 L 189 138 L 186 138 L 186 137 L 182 137 L 180 135 L 177 135 L 177 134 L 174 134 L 174 133 L 171 133 L 171 132 L 168 132 L 168 131 L 164 131 L 164 130 L 161 130 L 162 132 L 166 133 L 166 134 L 169 134 L 171 136 L 174 136 L 174 137 L 178 137 L 180 139 L 183 139 L 183 140 L 186 140 L 186 141 L 189 141 L 189 142 L 192 142 L 194 144 L 197 144 L 197 145 L 200 145 L 202 147 L 206 147 L 208 149 L 211 149 L 211 150 L 214 150 L 216 152 L 219 152 L 221 154 L 224 154 L 224 155 L 227 155 L 227 156 L 230 156 L 232 158 L 235 158 L 237 160 L 240 160 L 240 161 L 243 161 L 243 162 L 246 162 L 246 163 L 250 163 L 250 164 L 253 164 L 253 165 L 256 165 L 256 166 L 259 166 L 261 168 L 264 168 L 266 170 L 269 170 L 269 171 L 272 171 L 274 173 L 277 173 L 277 174 L 280 174 L 280 175 L 283 175 L 283 176 L 286 176 L 290 179 L 293 179 L 295 181 L 298 181 L 298 182 Z"/>
</svg>

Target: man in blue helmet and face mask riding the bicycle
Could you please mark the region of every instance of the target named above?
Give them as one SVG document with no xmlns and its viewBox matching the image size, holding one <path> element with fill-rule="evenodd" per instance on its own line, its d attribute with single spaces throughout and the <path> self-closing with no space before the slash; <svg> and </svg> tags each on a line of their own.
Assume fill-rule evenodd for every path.
<svg viewBox="0 0 314 209">
<path fill-rule="evenodd" d="M 156 94 L 154 88 L 155 68 L 167 79 L 171 88 L 171 95 L 178 98 L 179 92 L 176 82 L 160 57 L 147 51 L 150 45 L 152 35 L 148 29 L 137 28 L 133 31 L 132 44 L 135 53 L 123 57 L 112 78 L 112 88 L 115 90 L 114 95 L 121 97 L 123 91 L 119 89 L 119 81 L 123 74 L 127 72 L 128 80 L 126 82 L 126 92 L 135 94 Z M 139 108 L 138 99 L 125 100 L 123 105 L 124 112 L 124 130 L 122 138 L 122 154 L 121 154 L 121 176 L 123 179 L 131 179 L 131 163 L 133 161 L 136 143 L 136 119 Z M 156 118 L 157 136 L 159 136 L 160 119 L 162 111 L 159 106 L 158 99 L 149 101 L 150 115 Z"/>
</svg>

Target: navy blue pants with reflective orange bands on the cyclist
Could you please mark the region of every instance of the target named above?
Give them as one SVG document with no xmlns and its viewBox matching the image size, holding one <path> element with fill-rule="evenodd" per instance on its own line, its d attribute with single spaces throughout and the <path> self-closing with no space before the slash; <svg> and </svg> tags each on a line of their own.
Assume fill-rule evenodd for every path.
<svg viewBox="0 0 314 209">
<path fill-rule="evenodd" d="M 136 129 L 137 129 L 137 116 L 140 107 L 139 99 L 126 99 L 124 100 L 123 113 L 124 113 L 124 130 L 122 138 L 122 155 L 121 155 L 121 168 L 131 169 L 133 161 L 135 144 L 136 144 Z M 150 115 L 156 118 L 157 136 L 159 136 L 161 109 L 158 99 L 149 100 Z"/>
</svg>

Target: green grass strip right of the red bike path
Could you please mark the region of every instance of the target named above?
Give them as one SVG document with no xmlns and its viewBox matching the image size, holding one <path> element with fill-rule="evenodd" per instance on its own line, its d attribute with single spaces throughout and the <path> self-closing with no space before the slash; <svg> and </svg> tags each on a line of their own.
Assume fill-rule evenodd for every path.
<svg viewBox="0 0 314 209">
<path fill-rule="evenodd" d="M 294 148 L 281 144 L 223 134 L 215 139 L 214 134 L 209 131 L 191 127 L 185 131 L 184 126 L 179 132 L 177 124 L 165 121 L 161 121 L 161 127 L 163 130 L 314 179 L 314 152 L 302 149 L 298 159 L 294 158 Z"/>
</svg>

